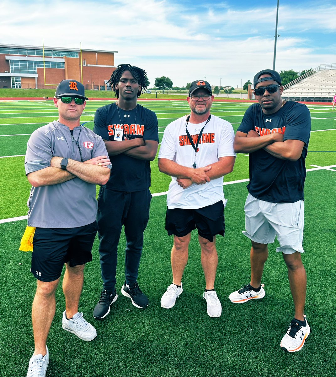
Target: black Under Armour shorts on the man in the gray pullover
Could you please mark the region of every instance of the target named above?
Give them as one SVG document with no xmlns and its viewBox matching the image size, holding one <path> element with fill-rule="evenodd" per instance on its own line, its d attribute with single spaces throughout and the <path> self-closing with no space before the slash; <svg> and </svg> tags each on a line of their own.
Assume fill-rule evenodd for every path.
<svg viewBox="0 0 336 377">
<path fill-rule="evenodd" d="M 32 274 L 38 280 L 51 282 L 61 276 L 64 263 L 75 267 L 92 261 L 96 233 L 96 221 L 78 228 L 36 228 Z"/>
</svg>

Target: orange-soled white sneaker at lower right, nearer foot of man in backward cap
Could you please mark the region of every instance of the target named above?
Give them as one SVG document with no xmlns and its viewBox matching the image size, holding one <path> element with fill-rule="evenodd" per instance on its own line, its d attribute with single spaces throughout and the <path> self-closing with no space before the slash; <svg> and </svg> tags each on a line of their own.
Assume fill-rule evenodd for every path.
<svg viewBox="0 0 336 377">
<path fill-rule="evenodd" d="M 305 317 L 305 316 L 304 316 Z M 306 325 L 302 326 L 301 323 L 292 319 L 290 322 L 289 329 L 284 335 L 280 342 L 280 347 L 287 350 L 288 352 L 300 351 L 303 347 L 305 340 L 310 334 L 310 327 L 308 325 L 307 319 L 305 320 Z"/>
</svg>

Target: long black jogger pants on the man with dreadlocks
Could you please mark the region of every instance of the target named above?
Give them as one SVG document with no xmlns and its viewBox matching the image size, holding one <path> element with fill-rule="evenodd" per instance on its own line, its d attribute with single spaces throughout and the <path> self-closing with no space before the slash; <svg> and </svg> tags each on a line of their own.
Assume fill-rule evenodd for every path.
<svg viewBox="0 0 336 377">
<path fill-rule="evenodd" d="M 137 281 L 151 198 L 149 189 L 123 192 L 100 188 L 97 223 L 104 289 L 114 290 L 116 285 L 118 242 L 122 225 L 125 228 L 126 238 L 126 284 Z"/>
</svg>

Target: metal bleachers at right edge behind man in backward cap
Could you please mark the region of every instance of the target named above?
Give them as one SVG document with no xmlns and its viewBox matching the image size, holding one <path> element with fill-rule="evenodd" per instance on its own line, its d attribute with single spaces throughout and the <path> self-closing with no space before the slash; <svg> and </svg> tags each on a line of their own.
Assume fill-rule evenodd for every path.
<svg viewBox="0 0 336 377">
<path fill-rule="evenodd" d="M 331 102 L 336 93 L 336 64 L 321 64 L 284 85 L 282 97 L 293 101 Z"/>
</svg>

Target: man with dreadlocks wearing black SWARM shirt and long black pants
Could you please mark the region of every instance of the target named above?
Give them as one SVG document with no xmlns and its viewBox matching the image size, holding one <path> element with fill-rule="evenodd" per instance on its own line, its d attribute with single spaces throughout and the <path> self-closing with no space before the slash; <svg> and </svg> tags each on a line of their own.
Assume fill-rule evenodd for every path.
<svg viewBox="0 0 336 377">
<path fill-rule="evenodd" d="M 117 250 L 124 225 L 125 282 L 121 293 L 137 308 L 148 306 L 148 298 L 137 283 L 138 269 L 149 218 L 151 201 L 150 161 L 153 161 L 159 135 L 155 113 L 137 104 L 146 89 L 146 72 L 130 64 L 119 64 L 108 84 L 118 100 L 97 109 L 94 132 L 100 135 L 112 163 L 107 184 L 98 196 L 98 237 L 103 289 L 93 310 L 102 319 L 116 301 Z"/>
</svg>

